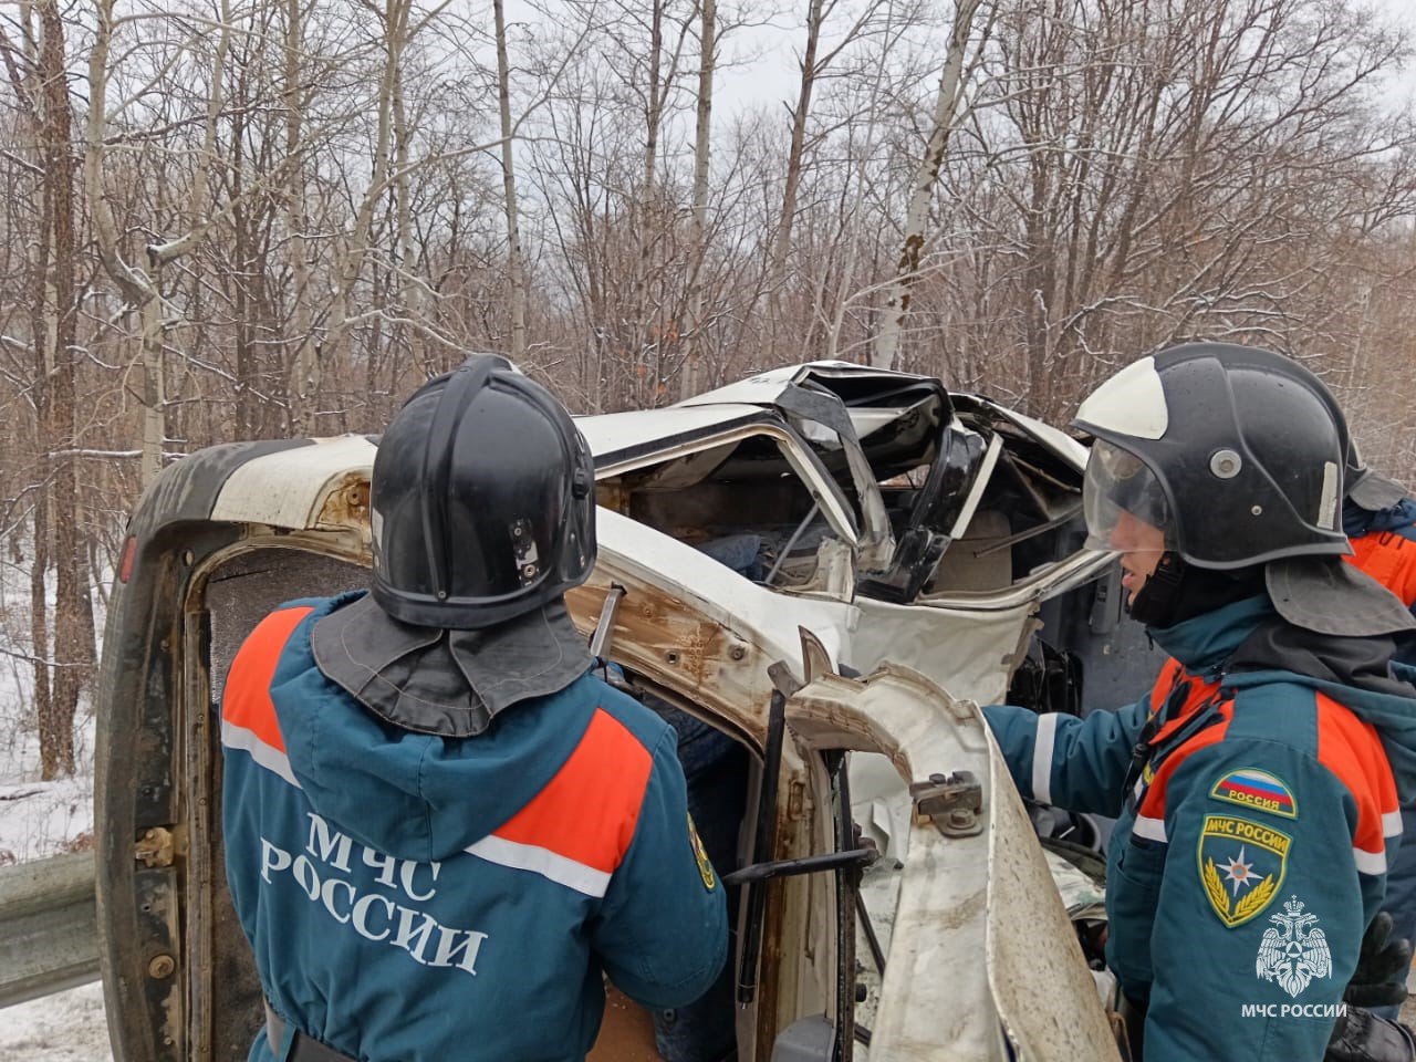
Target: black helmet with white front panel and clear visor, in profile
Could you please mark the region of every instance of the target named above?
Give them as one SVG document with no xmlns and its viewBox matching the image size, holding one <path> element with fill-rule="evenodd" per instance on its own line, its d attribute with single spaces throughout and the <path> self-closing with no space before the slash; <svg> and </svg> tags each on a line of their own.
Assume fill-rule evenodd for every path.
<svg viewBox="0 0 1416 1062">
<path fill-rule="evenodd" d="M 1188 343 L 1131 362 L 1072 422 L 1096 442 L 1087 545 L 1123 513 L 1197 568 L 1351 552 L 1341 525 L 1347 422 L 1303 365 L 1256 347 Z"/>
</svg>

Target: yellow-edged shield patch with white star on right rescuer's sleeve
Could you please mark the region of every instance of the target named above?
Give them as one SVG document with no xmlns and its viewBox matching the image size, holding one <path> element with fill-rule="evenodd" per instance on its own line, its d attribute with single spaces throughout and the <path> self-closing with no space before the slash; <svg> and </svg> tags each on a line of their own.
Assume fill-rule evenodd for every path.
<svg viewBox="0 0 1416 1062">
<path fill-rule="evenodd" d="M 1293 838 L 1238 816 L 1205 816 L 1199 882 L 1219 920 L 1233 929 L 1263 913 L 1289 872 Z"/>
</svg>

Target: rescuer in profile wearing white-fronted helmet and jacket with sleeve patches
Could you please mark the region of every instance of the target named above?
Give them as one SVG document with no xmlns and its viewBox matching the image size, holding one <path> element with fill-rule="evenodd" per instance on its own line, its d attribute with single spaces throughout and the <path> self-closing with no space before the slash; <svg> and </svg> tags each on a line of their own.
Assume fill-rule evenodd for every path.
<svg viewBox="0 0 1416 1062">
<path fill-rule="evenodd" d="M 1117 818 L 1106 954 L 1146 1062 L 1318 1062 L 1416 787 L 1413 622 L 1341 559 L 1341 412 L 1289 358 L 1198 343 L 1075 425 L 1089 544 L 1171 658 L 1119 712 L 988 722 L 1024 796 Z"/>
</svg>

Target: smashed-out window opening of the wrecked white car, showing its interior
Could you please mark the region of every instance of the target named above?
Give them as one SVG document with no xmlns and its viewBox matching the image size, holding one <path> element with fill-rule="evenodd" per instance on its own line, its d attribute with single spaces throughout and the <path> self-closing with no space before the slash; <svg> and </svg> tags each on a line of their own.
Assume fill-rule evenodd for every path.
<svg viewBox="0 0 1416 1062">
<path fill-rule="evenodd" d="M 901 405 L 847 406 L 893 538 L 892 552 L 874 562 L 850 555 L 773 435 L 704 440 L 691 453 L 602 479 L 599 501 L 753 582 L 843 598 L 997 593 L 1080 548 L 1073 464 L 990 404 L 950 401 L 937 384 L 899 388 L 891 398 Z M 800 413 L 790 422 L 864 525 L 860 476 L 840 433 Z"/>
</svg>

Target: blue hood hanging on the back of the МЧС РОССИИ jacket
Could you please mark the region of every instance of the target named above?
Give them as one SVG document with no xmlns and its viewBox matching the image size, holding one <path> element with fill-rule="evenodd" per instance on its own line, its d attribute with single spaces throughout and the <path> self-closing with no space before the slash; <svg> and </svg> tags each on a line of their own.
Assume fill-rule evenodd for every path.
<svg viewBox="0 0 1416 1062">
<path fill-rule="evenodd" d="M 500 712 L 476 738 L 413 733 L 379 719 L 316 666 L 321 600 L 290 636 L 270 683 L 290 769 L 321 817 L 399 860 L 445 860 L 520 811 L 579 745 L 599 702 L 582 674 Z"/>
</svg>

